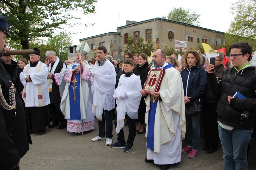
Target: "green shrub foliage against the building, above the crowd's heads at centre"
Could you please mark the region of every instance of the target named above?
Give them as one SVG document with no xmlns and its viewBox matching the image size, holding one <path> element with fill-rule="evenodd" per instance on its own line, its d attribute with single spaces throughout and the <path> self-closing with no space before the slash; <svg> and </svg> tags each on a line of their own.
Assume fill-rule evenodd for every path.
<svg viewBox="0 0 256 170">
<path fill-rule="evenodd" d="M 124 53 L 129 51 L 132 54 L 145 53 L 147 56 L 150 56 L 151 52 L 154 50 L 154 44 L 151 39 L 147 39 L 145 42 L 145 40 L 140 36 L 138 38 L 137 46 L 134 46 L 134 36 L 131 35 L 127 38 L 127 46 L 125 47 Z"/>
</svg>

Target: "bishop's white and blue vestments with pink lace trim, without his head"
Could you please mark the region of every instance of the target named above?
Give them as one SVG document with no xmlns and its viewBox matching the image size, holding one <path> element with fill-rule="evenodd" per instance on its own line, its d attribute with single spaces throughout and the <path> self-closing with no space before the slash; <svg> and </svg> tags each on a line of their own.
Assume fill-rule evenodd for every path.
<svg viewBox="0 0 256 170">
<path fill-rule="evenodd" d="M 79 66 L 80 64 L 75 62 L 74 64 L 70 64 L 67 68 L 61 70 L 61 78 L 60 78 L 60 96 L 61 103 L 60 109 L 67 119 L 67 130 L 68 132 L 82 132 L 82 121 L 83 121 L 83 130 L 84 132 L 94 129 L 94 115 L 91 111 L 93 95 L 91 93 L 90 87 L 90 77 L 91 77 L 91 66 L 84 61 L 85 68 L 81 70 L 78 74 L 78 78 L 73 74 L 73 68 Z M 75 76 L 74 80 L 71 81 L 72 76 Z M 81 77 L 81 78 L 79 78 Z M 79 83 L 79 85 L 77 85 Z M 75 85 L 75 86 L 74 86 Z M 74 86 L 74 89 L 71 87 Z M 75 88 L 77 86 L 77 89 Z M 70 90 L 71 89 L 71 90 Z M 73 90 L 78 92 L 79 99 L 75 96 Z M 71 94 L 71 96 L 70 96 Z M 76 100 L 78 103 L 78 107 L 73 108 L 70 107 L 70 103 L 73 103 Z M 80 115 L 77 119 L 72 119 L 74 115 L 77 115 L 77 109 L 79 109 Z"/>
</svg>

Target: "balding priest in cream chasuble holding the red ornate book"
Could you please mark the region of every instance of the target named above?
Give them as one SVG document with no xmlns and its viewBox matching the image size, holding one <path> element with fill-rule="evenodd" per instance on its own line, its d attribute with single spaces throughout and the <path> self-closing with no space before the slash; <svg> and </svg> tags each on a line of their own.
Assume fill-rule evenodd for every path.
<svg viewBox="0 0 256 170">
<path fill-rule="evenodd" d="M 182 139 L 185 138 L 185 103 L 182 79 L 172 64 L 165 62 L 166 53 L 157 49 L 153 53 L 155 68 L 163 68 L 165 75 L 159 92 L 144 95 L 146 108 L 147 157 L 145 162 L 169 169 L 171 164 L 181 161 Z"/>
</svg>

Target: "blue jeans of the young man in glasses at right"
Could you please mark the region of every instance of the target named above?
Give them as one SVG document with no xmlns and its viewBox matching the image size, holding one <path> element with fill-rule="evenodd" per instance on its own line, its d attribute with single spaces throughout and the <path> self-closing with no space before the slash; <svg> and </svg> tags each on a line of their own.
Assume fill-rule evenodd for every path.
<svg viewBox="0 0 256 170">
<path fill-rule="evenodd" d="M 251 140 L 251 131 L 234 128 L 227 130 L 219 127 L 219 138 L 223 150 L 224 170 L 248 169 L 247 149 Z"/>
</svg>

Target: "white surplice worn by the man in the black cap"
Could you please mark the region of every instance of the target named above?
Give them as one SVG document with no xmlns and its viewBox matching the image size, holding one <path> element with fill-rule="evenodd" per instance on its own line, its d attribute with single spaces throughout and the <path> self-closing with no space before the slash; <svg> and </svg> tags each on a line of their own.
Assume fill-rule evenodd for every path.
<svg viewBox="0 0 256 170">
<path fill-rule="evenodd" d="M 38 73 L 35 73 L 37 67 L 39 67 L 41 61 L 38 61 L 36 67 L 29 68 L 29 75 L 32 82 L 26 82 L 25 78 L 27 77 L 26 70 L 30 64 L 26 65 L 23 71 L 20 73 L 20 81 L 22 82 L 24 88 L 26 87 L 26 103 L 25 107 L 38 107 L 38 86 L 42 85 L 42 97 L 43 97 L 43 106 L 50 104 L 47 76 L 48 76 L 48 67 L 46 64 L 42 63 L 41 69 Z M 23 90 L 24 93 L 24 90 Z M 24 94 L 22 94 L 22 97 Z"/>
</svg>

